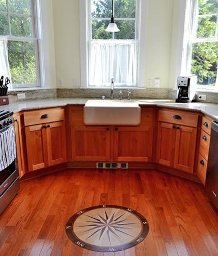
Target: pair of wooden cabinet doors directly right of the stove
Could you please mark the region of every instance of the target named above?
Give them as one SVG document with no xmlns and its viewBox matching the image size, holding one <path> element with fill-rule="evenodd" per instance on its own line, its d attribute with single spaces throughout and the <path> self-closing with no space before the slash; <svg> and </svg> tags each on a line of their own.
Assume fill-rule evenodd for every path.
<svg viewBox="0 0 218 256">
<path fill-rule="evenodd" d="M 63 121 L 25 127 L 29 172 L 66 161 Z"/>
</svg>

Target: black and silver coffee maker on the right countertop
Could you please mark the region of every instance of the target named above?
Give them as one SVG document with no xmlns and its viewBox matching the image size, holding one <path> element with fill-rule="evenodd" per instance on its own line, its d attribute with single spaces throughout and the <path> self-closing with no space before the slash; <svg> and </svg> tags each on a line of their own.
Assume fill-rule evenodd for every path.
<svg viewBox="0 0 218 256">
<path fill-rule="evenodd" d="M 177 100 L 175 102 L 194 102 L 196 101 L 197 75 L 188 77 L 178 77 L 177 79 Z"/>
</svg>

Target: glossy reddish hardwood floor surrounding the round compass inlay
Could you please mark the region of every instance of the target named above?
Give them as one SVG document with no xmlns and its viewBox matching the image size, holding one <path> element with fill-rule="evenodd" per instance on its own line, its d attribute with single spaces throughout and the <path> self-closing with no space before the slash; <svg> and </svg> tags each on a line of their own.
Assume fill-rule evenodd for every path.
<svg viewBox="0 0 218 256">
<path fill-rule="evenodd" d="M 80 248 L 65 232 L 78 210 L 128 206 L 145 216 L 145 241 L 116 253 Z M 64 170 L 21 182 L 0 216 L 0 255 L 218 255 L 218 213 L 203 186 L 155 170 Z"/>
</svg>

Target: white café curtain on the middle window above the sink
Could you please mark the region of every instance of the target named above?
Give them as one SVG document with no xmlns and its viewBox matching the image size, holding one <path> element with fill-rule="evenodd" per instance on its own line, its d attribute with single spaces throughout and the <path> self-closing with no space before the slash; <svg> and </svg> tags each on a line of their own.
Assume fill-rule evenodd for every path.
<svg viewBox="0 0 218 256">
<path fill-rule="evenodd" d="M 136 86 L 138 42 L 134 40 L 90 40 L 90 86 Z"/>
</svg>

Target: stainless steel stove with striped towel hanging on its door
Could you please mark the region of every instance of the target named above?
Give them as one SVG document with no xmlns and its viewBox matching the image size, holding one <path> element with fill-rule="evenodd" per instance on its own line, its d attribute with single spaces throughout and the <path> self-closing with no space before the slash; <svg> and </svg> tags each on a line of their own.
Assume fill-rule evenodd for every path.
<svg viewBox="0 0 218 256">
<path fill-rule="evenodd" d="M 0 214 L 20 188 L 12 115 L 11 111 L 0 111 Z"/>
</svg>

